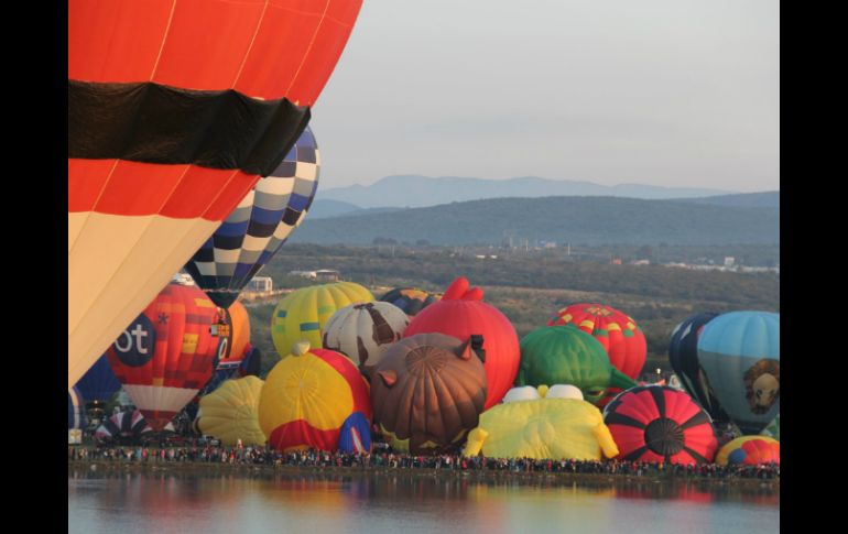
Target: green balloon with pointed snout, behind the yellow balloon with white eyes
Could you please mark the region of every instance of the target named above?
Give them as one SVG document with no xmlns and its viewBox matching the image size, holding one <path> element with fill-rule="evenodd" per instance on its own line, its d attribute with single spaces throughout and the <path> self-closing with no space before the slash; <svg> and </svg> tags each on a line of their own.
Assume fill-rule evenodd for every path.
<svg viewBox="0 0 848 534">
<path fill-rule="evenodd" d="M 597 339 L 566 326 L 536 328 L 521 340 L 521 364 L 515 385 L 572 384 L 592 404 L 604 399 L 607 388 L 626 390 L 637 385 L 609 361 Z"/>
</svg>

